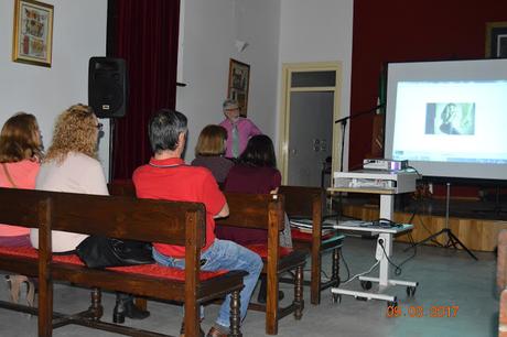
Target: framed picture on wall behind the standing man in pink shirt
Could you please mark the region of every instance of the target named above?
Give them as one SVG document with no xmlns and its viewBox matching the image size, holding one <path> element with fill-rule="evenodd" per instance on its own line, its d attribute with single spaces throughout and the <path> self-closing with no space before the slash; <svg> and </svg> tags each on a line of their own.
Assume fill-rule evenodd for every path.
<svg viewBox="0 0 507 337">
<path fill-rule="evenodd" d="M 239 115 L 242 117 L 247 117 L 248 88 L 250 86 L 249 81 L 250 66 L 246 63 L 230 58 L 227 97 L 238 101 Z"/>
</svg>

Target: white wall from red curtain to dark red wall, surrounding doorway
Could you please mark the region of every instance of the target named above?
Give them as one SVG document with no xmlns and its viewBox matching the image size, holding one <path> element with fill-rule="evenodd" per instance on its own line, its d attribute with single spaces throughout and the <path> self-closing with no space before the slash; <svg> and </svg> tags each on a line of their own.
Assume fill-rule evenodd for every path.
<svg viewBox="0 0 507 337">
<path fill-rule="evenodd" d="M 353 0 L 182 0 L 181 12 L 179 81 L 187 86 L 176 109 L 190 120 L 187 161 L 201 130 L 223 119 L 230 57 L 250 65 L 248 117 L 276 143 L 282 63 L 342 62 L 339 109 L 348 115 Z M 238 53 L 235 40 L 249 45 Z"/>
</svg>

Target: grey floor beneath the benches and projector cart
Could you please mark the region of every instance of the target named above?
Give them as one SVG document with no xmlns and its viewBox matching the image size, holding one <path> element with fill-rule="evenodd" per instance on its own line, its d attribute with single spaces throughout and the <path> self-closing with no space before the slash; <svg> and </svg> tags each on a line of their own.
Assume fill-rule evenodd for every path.
<svg viewBox="0 0 507 337">
<path fill-rule="evenodd" d="M 413 250 L 403 252 L 403 243 L 395 243 L 393 262 L 400 263 L 409 258 Z M 343 256 L 352 273 L 363 272 L 375 262 L 375 241 L 347 238 Z M 305 287 L 305 309 L 301 320 L 288 316 L 280 322 L 279 336 L 445 336 L 445 337 L 486 337 L 497 336 L 498 300 L 495 291 L 496 261 L 493 253 L 477 253 L 479 261 L 472 260 L 462 251 L 435 247 L 418 248 L 413 259 L 402 267 L 397 279 L 418 281 L 420 286 L 413 298 L 408 298 L 404 287 L 393 287 L 389 292 L 397 294 L 402 315 L 388 317 L 387 305 L 380 301 L 357 301 L 344 296 L 341 304 L 333 304 L 331 292 L 322 294 L 322 304 L 310 304 Z M 324 265 L 330 269 L 330 256 L 324 257 Z M 347 273 L 341 262 L 342 279 Z M 374 271 L 374 273 L 377 270 Z M 360 289 L 357 282 L 347 284 L 350 289 Z M 282 284 L 287 293 L 292 286 Z M 0 297 L 7 298 L 4 282 L 0 282 Z M 55 309 L 69 313 L 88 306 L 88 291 L 58 284 L 55 289 Z M 289 300 L 284 300 L 289 301 Z M 110 320 L 114 295 L 105 294 L 105 319 Z M 438 307 L 457 309 L 455 317 L 432 317 Z M 151 317 L 141 322 L 127 322 L 140 328 L 157 329 L 161 333 L 177 335 L 181 323 L 181 308 L 174 305 L 149 302 Z M 423 309 L 422 315 L 418 309 Z M 203 328 L 207 330 L 216 317 L 218 306 L 206 307 Z M 443 309 L 442 309 L 443 311 Z M 420 312 L 419 312 L 420 313 Z M 421 317 L 411 317 L 410 314 Z M 263 315 L 249 312 L 242 325 L 245 336 L 265 336 Z M 0 336 L 36 336 L 36 317 L 26 317 L 10 311 L 0 309 Z M 65 326 L 54 330 L 54 336 L 116 336 L 79 326 Z"/>
</svg>

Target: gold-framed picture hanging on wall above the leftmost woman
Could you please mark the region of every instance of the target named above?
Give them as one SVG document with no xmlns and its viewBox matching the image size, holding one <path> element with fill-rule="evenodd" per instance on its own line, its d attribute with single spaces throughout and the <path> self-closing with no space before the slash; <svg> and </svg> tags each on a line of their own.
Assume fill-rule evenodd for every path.
<svg viewBox="0 0 507 337">
<path fill-rule="evenodd" d="M 53 6 L 15 0 L 12 61 L 51 67 Z"/>
</svg>

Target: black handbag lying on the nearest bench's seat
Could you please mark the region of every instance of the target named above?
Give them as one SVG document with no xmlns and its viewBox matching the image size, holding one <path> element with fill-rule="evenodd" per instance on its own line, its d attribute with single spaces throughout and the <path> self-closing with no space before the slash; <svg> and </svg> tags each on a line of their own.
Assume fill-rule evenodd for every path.
<svg viewBox="0 0 507 337">
<path fill-rule="evenodd" d="M 151 243 L 89 236 L 76 247 L 79 259 L 89 268 L 154 263 Z"/>
</svg>

